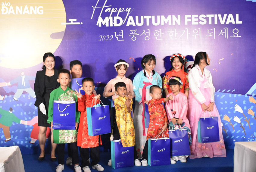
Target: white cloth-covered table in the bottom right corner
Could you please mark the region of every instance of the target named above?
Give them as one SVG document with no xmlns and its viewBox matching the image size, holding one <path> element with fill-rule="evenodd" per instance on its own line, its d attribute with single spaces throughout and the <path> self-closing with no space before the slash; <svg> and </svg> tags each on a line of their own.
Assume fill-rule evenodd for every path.
<svg viewBox="0 0 256 172">
<path fill-rule="evenodd" d="M 235 142 L 234 172 L 256 172 L 256 142 Z"/>
</svg>

